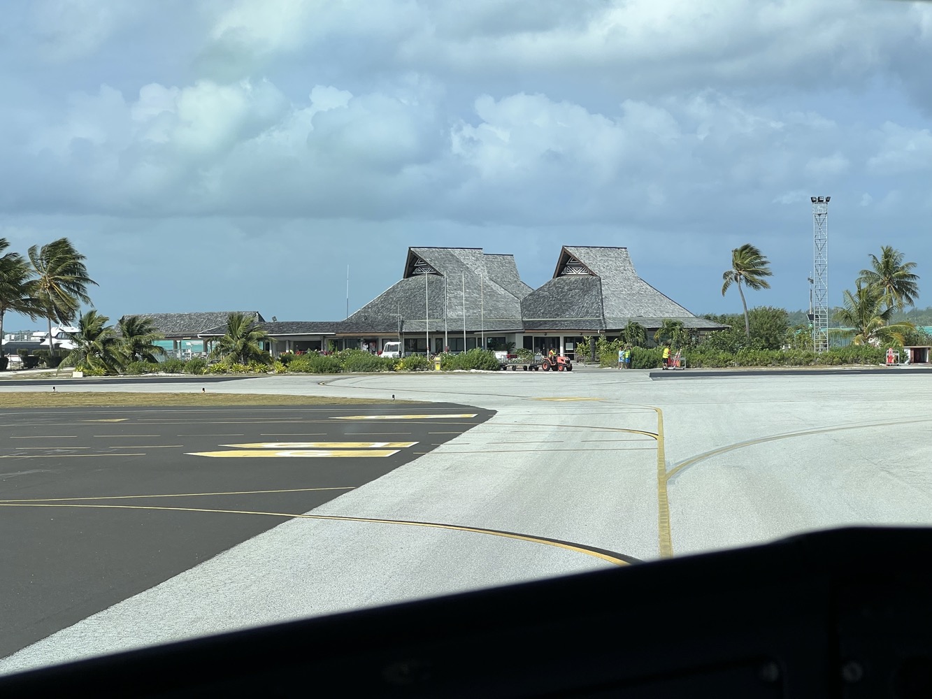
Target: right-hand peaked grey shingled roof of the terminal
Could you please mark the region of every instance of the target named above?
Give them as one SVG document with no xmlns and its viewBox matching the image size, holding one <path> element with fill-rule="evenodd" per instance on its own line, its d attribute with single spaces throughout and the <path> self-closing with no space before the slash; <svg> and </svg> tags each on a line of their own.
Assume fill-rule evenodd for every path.
<svg viewBox="0 0 932 699">
<path fill-rule="evenodd" d="M 521 304 L 527 330 L 617 330 L 628 322 L 720 329 L 637 276 L 627 248 L 565 246 L 554 277 Z"/>
</svg>

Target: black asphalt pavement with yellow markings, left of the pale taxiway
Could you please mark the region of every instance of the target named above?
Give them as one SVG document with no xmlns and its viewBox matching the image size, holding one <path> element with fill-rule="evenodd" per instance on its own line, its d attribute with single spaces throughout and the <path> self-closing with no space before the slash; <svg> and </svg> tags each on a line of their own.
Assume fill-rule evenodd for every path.
<svg viewBox="0 0 932 699">
<path fill-rule="evenodd" d="M 454 404 L 4 411 L 0 657 L 287 519 L 248 513 L 306 513 L 490 416 Z"/>
</svg>

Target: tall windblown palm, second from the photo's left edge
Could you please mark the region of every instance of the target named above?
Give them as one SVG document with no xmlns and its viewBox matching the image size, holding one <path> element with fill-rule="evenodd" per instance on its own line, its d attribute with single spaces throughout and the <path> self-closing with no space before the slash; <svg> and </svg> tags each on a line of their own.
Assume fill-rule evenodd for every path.
<svg viewBox="0 0 932 699">
<path fill-rule="evenodd" d="M 29 261 L 35 279 L 30 289 L 40 314 L 48 319 L 48 353 L 54 355 L 52 346 L 52 321 L 72 322 L 80 304 L 90 303 L 88 285 L 97 282 L 90 279 L 84 266 L 85 256 L 75 250 L 71 240 L 60 238 L 39 247 L 29 249 Z"/>
</svg>

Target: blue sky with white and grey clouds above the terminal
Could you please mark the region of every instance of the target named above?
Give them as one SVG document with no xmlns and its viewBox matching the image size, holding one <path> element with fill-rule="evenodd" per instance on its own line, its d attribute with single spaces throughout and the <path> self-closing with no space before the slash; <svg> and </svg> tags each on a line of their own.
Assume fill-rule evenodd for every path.
<svg viewBox="0 0 932 699">
<path fill-rule="evenodd" d="M 341 320 L 409 246 L 533 287 L 624 246 L 706 313 L 750 242 L 799 309 L 829 195 L 835 305 L 882 245 L 930 267 L 929 65 L 900 0 L 8 0 L 0 238 L 68 237 L 114 321 Z"/>
</svg>

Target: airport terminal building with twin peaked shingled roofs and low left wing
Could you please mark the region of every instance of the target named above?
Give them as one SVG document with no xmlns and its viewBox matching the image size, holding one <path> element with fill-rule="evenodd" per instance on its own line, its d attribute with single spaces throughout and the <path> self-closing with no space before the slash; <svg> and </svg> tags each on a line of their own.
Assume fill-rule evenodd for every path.
<svg viewBox="0 0 932 699">
<path fill-rule="evenodd" d="M 644 326 L 649 339 L 665 320 L 698 332 L 725 327 L 640 279 L 626 248 L 583 246 L 564 246 L 553 277 L 538 289 L 521 280 L 511 254 L 409 248 L 402 278 L 344 321 L 265 322 L 255 315 L 274 338 L 267 347 L 273 354 L 334 345 L 380 350 L 401 340 L 408 352 L 514 347 L 573 356 L 584 336 L 616 337 L 629 322 Z M 222 322 L 203 327 L 208 316 L 213 321 L 221 314 L 150 315 L 177 335 L 172 316 L 198 316 L 194 335 L 208 346 L 224 334 Z M 193 324 L 187 324 L 191 336 Z"/>
</svg>

